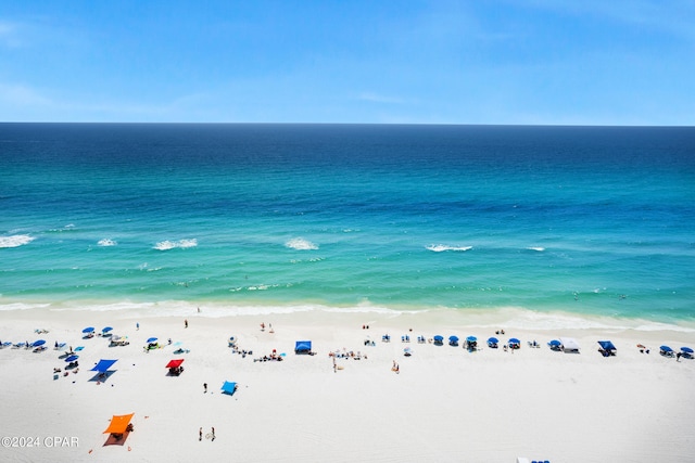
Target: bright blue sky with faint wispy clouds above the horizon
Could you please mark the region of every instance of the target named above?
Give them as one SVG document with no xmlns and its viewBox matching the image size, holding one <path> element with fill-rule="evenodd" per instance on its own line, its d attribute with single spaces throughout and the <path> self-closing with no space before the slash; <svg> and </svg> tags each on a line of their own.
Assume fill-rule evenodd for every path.
<svg viewBox="0 0 695 463">
<path fill-rule="evenodd" d="M 3 0 L 0 121 L 695 125 L 693 0 Z"/>
</svg>

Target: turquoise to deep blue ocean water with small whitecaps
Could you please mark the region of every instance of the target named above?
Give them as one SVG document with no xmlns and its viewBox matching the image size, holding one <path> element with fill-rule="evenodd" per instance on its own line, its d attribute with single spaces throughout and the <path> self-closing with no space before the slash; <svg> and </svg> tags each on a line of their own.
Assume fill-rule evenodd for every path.
<svg viewBox="0 0 695 463">
<path fill-rule="evenodd" d="M 695 319 L 695 128 L 0 124 L 0 308 Z"/>
</svg>

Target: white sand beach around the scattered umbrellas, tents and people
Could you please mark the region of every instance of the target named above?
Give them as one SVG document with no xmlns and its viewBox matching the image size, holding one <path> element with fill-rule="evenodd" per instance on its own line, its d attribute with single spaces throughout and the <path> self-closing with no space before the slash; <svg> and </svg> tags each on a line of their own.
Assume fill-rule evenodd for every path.
<svg viewBox="0 0 695 463">
<path fill-rule="evenodd" d="M 662 344 L 677 351 L 692 347 L 691 327 L 582 324 L 521 311 L 261 314 L 201 307 L 200 313 L 176 313 L 0 312 L 0 340 L 45 339 L 48 347 L 0 350 L 0 460 L 513 463 L 525 456 L 558 463 L 690 462 L 695 454 L 695 360 L 659 355 Z M 112 326 L 129 345 L 109 347 L 99 335 L 85 339 L 86 326 L 96 333 Z M 521 348 L 489 348 L 485 339 L 501 329 L 501 343 L 517 337 Z M 417 343 L 437 334 L 443 346 Z M 233 353 L 232 335 L 252 353 Z M 405 335 L 409 343 L 401 340 Z M 477 336 L 480 349 L 452 347 L 450 335 L 462 343 Z M 547 347 L 563 336 L 574 338 L 581 352 Z M 149 337 L 163 347 L 146 352 Z M 540 348 L 528 345 L 534 339 Z M 612 340 L 617 355 L 603 357 L 599 339 Z M 315 355 L 295 355 L 296 340 L 312 340 Z M 55 342 L 66 346 L 55 350 Z M 76 373 L 65 369 L 71 346 L 83 347 L 75 351 Z M 174 353 L 179 347 L 187 351 Z M 282 361 L 254 361 L 274 349 Z M 361 359 L 339 356 L 334 368 L 334 351 L 359 352 Z M 179 358 L 184 372 L 167 375 L 167 362 Z M 117 359 L 106 378 L 90 371 L 101 359 Z M 54 375 L 55 368 L 61 372 Z M 238 384 L 232 396 L 222 394 L 225 381 Z M 112 415 L 128 413 L 135 413 L 134 432 L 113 443 L 103 430 Z"/>
</svg>

